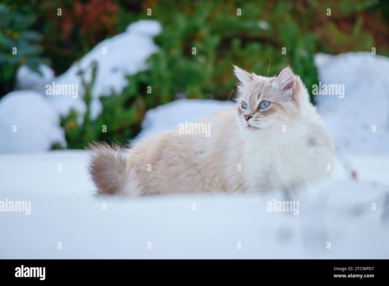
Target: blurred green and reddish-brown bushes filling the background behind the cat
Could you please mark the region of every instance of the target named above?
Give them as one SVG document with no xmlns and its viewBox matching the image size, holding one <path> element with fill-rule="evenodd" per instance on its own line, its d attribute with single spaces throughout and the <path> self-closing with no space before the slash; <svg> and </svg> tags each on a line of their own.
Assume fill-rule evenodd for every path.
<svg viewBox="0 0 389 286">
<path fill-rule="evenodd" d="M 14 7 L 10 0 L 5 2 Z M 84 147 L 91 139 L 124 142 L 139 132 L 145 111 L 175 98 L 227 100 L 236 82 L 232 64 L 269 76 L 290 65 L 310 89 L 317 83 L 313 61 L 317 52 L 370 52 L 376 47 L 377 54 L 389 55 L 387 1 L 20 2 L 30 3 L 30 11 L 38 19 L 34 28 L 43 35 L 44 56 L 51 60 L 56 74 L 133 21 L 156 19 L 163 26 L 161 35 L 154 39 L 160 51 L 149 58 L 150 69 L 129 76 L 121 95 L 101 98 L 103 112 L 95 121 L 88 119 L 88 112 L 81 126 L 74 111 L 63 118 L 70 148 Z M 56 15 L 58 7 L 63 9 L 62 17 Z M 147 16 L 149 8 L 151 16 Z M 193 47 L 196 54 L 192 54 Z M 283 47 L 286 54 L 282 54 Z M 88 108 L 91 85 L 93 82 L 84 82 Z M 147 86 L 152 87 L 151 94 L 146 92 Z"/>
</svg>

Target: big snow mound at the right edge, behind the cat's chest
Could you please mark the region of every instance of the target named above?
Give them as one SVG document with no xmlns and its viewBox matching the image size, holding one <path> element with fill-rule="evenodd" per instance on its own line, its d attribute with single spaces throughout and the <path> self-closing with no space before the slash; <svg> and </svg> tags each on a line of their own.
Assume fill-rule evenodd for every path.
<svg viewBox="0 0 389 286">
<path fill-rule="evenodd" d="M 344 84 L 343 95 L 314 98 L 335 145 L 347 153 L 388 152 L 389 58 L 316 54 L 315 65 L 322 85 Z"/>
</svg>

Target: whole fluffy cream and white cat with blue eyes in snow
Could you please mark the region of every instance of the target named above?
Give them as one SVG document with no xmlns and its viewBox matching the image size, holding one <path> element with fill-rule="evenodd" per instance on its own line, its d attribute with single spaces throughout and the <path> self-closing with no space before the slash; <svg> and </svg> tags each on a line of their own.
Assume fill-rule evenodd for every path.
<svg viewBox="0 0 389 286">
<path fill-rule="evenodd" d="M 288 190 L 328 177 L 334 147 L 300 77 L 289 68 L 278 77 L 239 79 L 236 110 L 202 123 L 210 136 L 172 130 L 132 149 L 93 144 L 89 172 L 98 193 Z"/>
</svg>

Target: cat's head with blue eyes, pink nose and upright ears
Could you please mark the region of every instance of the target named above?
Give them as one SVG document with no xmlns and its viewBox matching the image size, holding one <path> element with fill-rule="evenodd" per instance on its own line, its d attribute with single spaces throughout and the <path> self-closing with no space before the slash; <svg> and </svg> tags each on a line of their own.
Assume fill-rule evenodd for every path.
<svg viewBox="0 0 389 286">
<path fill-rule="evenodd" d="M 236 101 L 237 123 L 242 130 L 281 129 L 298 117 L 296 79 L 289 69 L 278 77 L 262 77 L 235 67 L 235 74 L 240 81 Z"/>
</svg>

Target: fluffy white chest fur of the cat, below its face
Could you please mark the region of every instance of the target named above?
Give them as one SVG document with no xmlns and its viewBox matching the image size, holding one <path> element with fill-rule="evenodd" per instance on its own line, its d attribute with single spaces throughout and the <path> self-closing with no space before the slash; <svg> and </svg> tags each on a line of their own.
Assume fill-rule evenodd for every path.
<svg viewBox="0 0 389 286">
<path fill-rule="evenodd" d="M 259 132 L 240 127 L 245 138 L 244 161 L 247 180 L 254 190 L 291 189 L 306 182 L 328 177 L 334 155 L 326 145 L 312 146 L 310 142 L 322 142 L 323 124 L 316 114 L 304 116 L 294 125 L 286 124 L 286 132 L 268 128 Z M 310 122 L 305 124 L 304 122 Z M 261 144 L 258 144 L 258 136 Z M 245 172 L 245 173 L 246 173 Z"/>
</svg>

